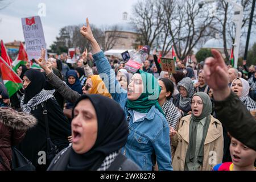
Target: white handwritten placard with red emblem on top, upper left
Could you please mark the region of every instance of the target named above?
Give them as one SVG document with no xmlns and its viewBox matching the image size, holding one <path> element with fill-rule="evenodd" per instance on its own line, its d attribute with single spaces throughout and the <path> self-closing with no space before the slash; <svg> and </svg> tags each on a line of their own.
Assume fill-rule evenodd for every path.
<svg viewBox="0 0 256 182">
<path fill-rule="evenodd" d="M 41 48 L 46 49 L 46 40 L 44 39 L 44 31 L 40 16 L 22 18 L 22 28 L 28 59 L 39 59 L 41 56 Z"/>
</svg>

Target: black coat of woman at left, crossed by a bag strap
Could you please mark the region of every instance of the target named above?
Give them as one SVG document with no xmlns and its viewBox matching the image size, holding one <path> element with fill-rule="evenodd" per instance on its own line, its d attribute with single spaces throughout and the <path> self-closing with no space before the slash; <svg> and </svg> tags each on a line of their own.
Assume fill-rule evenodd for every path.
<svg viewBox="0 0 256 182">
<path fill-rule="evenodd" d="M 36 170 L 45 171 L 49 164 L 44 165 L 38 163 L 38 159 L 42 156 L 39 155 L 39 152 L 47 151 L 46 123 L 43 115 L 43 104 L 46 104 L 47 109 L 49 135 L 59 151 L 63 150 L 63 148 L 67 147 L 69 144 L 68 137 L 71 135 L 71 125 L 54 97 L 32 108 L 31 114 L 38 119 L 38 124 L 27 131 L 18 149 L 32 162 Z"/>
</svg>

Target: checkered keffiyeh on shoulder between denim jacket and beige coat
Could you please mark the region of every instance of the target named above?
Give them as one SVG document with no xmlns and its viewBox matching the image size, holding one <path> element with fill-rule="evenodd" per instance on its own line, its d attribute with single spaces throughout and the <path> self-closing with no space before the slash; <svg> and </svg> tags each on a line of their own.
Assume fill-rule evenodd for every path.
<svg viewBox="0 0 256 182">
<path fill-rule="evenodd" d="M 172 101 L 167 100 L 162 106 L 163 112 L 166 115 L 166 120 L 169 125 L 176 129 L 177 122 L 181 119 L 182 115 L 177 107 L 172 104 Z"/>
</svg>

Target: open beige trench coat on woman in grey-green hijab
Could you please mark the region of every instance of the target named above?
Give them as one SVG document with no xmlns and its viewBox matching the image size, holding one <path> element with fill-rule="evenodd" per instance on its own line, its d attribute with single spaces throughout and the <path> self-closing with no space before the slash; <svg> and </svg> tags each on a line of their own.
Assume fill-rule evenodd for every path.
<svg viewBox="0 0 256 182">
<path fill-rule="evenodd" d="M 189 144 L 189 123 L 191 115 L 181 118 L 177 134 L 171 138 L 172 146 L 176 148 L 172 166 L 175 171 L 184 171 L 185 158 Z M 222 162 L 223 131 L 221 122 L 210 116 L 210 125 L 204 142 L 204 160 L 200 171 L 211 171 L 216 164 Z M 209 162 L 210 159 L 210 162 Z"/>
</svg>

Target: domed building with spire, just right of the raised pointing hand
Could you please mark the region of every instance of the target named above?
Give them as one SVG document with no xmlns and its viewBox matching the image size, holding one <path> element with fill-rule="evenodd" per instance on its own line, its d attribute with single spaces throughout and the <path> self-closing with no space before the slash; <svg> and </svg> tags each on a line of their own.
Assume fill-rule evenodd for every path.
<svg viewBox="0 0 256 182">
<path fill-rule="evenodd" d="M 138 36 L 132 24 L 127 20 L 128 14 L 123 13 L 122 21 L 117 23 L 110 30 L 105 31 L 106 56 L 120 57 L 122 52 L 131 51 L 135 48 Z"/>
</svg>

